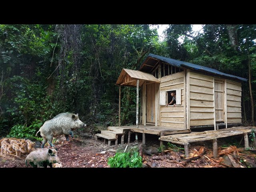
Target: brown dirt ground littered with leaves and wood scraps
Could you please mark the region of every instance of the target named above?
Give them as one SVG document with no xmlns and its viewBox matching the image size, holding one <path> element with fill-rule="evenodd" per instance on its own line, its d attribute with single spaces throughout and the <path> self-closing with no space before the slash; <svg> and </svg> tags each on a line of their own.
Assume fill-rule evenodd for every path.
<svg viewBox="0 0 256 192">
<path fill-rule="evenodd" d="M 92 135 L 84 134 L 75 139 L 66 141 L 64 136 L 59 136 L 55 140 L 54 145 L 58 149 L 58 157 L 64 168 L 106 168 L 110 167 L 107 162 L 108 158 L 115 155 L 116 152 L 123 152 L 127 144 L 118 144 L 111 146 L 104 144 L 102 140 L 95 140 Z M 82 142 L 81 142 L 82 141 Z M 148 140 L 146 146 L 142 146 L 142 141 L 132 141 L 126 151 L 131 148 L 138 148 L 140 154 L 143 155 L 144 167 L 163 167 L 163 168 L 183 168 L 183 167 L 256 167 L 255 150 L 244 150 L 236 146 L 226 146 L 218 142 L 218 158 L 212 157 L 212 143 L 202 142 L 194 143 L 190 147 L 190 158 L 185 159 L 184 150 L 178 146 L 166 144 L 165 152 L 162 155 L 160 152 L 152 152 L 147 154 L 146 148 L 160 147 L 160 142 L 157 139 Z M 168 147 L 169 146 L 169 147 Z M 40 147 L 37 142 L 36 147 Z M 45 146 L 50 148 L 50 146 Z M 182 146 L 180 146 L 182 147 Z M 112 151 L 109 151 L 112 150 Z M 26 167 L 25 158 L 27 154 L 21 154 L 21 157 L 16 157 L 15 154 L 4 156 L 0 153 L 1 168 L 19 168 Z M 233 164 L 230 163 L 230 160 Z M 28 167 L 31 167 L 30 165 Z"/>
</svg>

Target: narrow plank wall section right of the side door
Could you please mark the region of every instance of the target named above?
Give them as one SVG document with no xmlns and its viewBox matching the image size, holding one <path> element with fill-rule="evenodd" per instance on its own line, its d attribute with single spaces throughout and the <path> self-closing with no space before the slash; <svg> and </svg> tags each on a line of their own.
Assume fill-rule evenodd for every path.
<svg viewBox="0 0 256 192">
<path fill-rule="evenodd" d="M 241 96 L 242 85 L 239 82 L 226 80 L 226 98 L 227 98 L 227 122 L 241 123 Z"/>
</svg>

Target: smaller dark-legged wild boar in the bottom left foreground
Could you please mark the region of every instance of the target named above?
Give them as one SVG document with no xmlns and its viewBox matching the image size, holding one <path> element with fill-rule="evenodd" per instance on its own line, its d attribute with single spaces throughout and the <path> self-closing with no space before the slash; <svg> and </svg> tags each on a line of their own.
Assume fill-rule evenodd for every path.
<svg viewBox="0 0 256 192">
<path fill-rule="evenodd" d="M 57 151 L 55 149 L 38 149 L 32 151 L 25 160 L 26 166 L 28 167 L 28 163 L 32 167 L 45 167 L 50 166 L 55 163 L 61 163 L 60 159 L 57 156 Z"/>
</svg>

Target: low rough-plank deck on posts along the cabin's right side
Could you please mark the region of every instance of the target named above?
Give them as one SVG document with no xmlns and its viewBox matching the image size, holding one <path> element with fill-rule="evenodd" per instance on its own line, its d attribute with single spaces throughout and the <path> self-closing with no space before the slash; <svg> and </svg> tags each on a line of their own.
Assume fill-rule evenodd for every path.
<svg viewBox="0 0 256 192">
<path fill-rule="evenodd" d="M 245 148 L 249 147 L 248 141 L 248 133 L 252 132 L 252 129 L 256 130 L 256 127 L 232 127 L 227 129 L 220 129 L 216 131 L 204 131 L 204 132 L 191 132 L 190 134 L 174 134 L 174 135 L 166 135 L 161 136 L 159 138 L 160 141 L 167 141 L 176 144 L 182 144 L 185 146 L 185 155 L 188 156 L 188 147 L 190 146 L 191 142 L 198 142 L 198 141 L 206 141 L 212 140 L 213 141 L 213 151 L 214 157 L 217 157 L 217 139 L 224 138 L 228 136 L 234 135 L 244 135 L 244 144 Z M 254 141 L 254 145 L 256 142 Z"/>
</svg>

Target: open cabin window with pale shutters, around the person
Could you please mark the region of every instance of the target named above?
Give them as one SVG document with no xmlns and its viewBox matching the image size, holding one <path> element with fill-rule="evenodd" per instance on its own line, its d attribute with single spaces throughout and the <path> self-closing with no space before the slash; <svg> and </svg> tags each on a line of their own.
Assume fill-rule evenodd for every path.
<svg viewBox="0 0 256 192">
<path fill-rule="evenodd" d="M 166 105 L 172 101 L 171 92 L 176 93 L 176 105 L 181 105 L 181 89 L 160 91 L 159 104 Z M 174 103 L 170 104 L 173 106 Z"/>
</svg>

